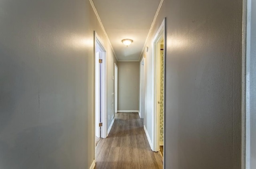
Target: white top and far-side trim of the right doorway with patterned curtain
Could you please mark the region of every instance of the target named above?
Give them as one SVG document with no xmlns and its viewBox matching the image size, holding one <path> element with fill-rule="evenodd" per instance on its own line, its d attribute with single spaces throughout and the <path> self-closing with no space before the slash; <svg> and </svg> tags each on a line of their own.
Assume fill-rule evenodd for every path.
<svg viewBox="0 0 256 169">
<path fill-rule="evenodd" d="M 165 18 L 161 24 L 161 26 L 158 28 L 158 31 L 154 37 L 153 40 L 153 114 L 152 114 L 152 150 L 153 151 L 159 151 L 159 138 L 160 138 L 160 114 L 159 112 L 159 106 L 158 106 L 158 101 L 159 101 L 159 96 L 160 96 L 160 91 L 159 91 L 159 87 L 158 84 L 159 83 L 159 77 L 158 77 L 158 73 L 159 73 L 159 69 L 160 67 L 158 66 L 158 63 L 160 61 L 159 57 L 157 57 L 157 51 L 160 48 L 160 43 L 159 40 L 160 38 L 164 38 L 164 43 L 165 43 Z M 166 44 L 164 44 L 166 46 Z M 164 49 L 165 49 L 164 46 Z"/>
</svg>

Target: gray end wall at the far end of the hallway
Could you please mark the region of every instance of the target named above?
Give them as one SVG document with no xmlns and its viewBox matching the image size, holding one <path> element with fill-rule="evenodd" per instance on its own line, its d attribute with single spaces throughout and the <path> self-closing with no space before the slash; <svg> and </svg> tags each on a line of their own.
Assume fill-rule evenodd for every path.
<svg viewBox="0 0 256 169">
<path fill-rule="evenodd" d="M 118 110 L 139 110 L 140 62 L 118 62 Z"/>
</svg>

